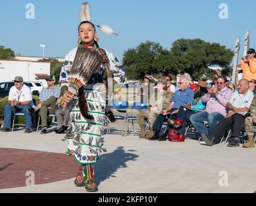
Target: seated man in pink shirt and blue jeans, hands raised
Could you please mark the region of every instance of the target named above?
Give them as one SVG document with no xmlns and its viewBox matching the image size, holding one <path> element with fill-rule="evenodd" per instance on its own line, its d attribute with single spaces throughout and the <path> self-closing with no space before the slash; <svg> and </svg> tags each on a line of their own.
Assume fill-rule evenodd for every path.
<svg viewBox="0 0 256 206">
<path fill-rule="evenodd" d="M 232 94 L 233 92 L 227 87 L 227 79 L 224 76 L 217 79 L 217 88 L 208 89 L 208 93 L 202 98 L 202 101 L 207 103 L 205 111 L 190 117 L 190 122 L 200 135 L 213 135 L 217 122 L 223 120 L 227 115 L 226 105 Z M 205 121 L 208 121 L 209 129 L 205 126 Z"/>
</svg>

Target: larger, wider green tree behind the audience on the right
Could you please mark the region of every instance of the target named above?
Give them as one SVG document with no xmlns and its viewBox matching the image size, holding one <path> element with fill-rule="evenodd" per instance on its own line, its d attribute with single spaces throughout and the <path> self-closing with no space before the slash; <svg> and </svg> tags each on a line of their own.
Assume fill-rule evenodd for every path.
<svg viewBox="0 0 256 206">
<path fill-rule="evenodd" d="M 170 71 L 190 73 L 194 79 L 211 79 L 213 71 L 209 66 L 219 65 L 224 74 L 230 75 L 228 69 L 233 52 L 218 43 L 202 41 L 202 39 L 178 39 L 173 42 L 169 59 Z"/>
</svg>

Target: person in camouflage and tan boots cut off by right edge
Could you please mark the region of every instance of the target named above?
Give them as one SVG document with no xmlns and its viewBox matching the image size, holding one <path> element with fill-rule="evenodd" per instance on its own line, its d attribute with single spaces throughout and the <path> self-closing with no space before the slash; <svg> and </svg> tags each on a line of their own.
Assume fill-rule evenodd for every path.
<svg viewBox="0 0 256 206">
<path fill-rule="evenodd" d="M 251 115 L 251 117 L 247 117 L 244 120 L 245 131 L 248 136 L 248 142 L 246 144 L 242 145 L 242 147 L 244 147 L 244 148 L 255 147 L 253 126 L 255 126 L 255 124 L 256 124 L 256 96 L 253 98 L 253 101 L 251 103 L 250 115 Z"/>
</svg>

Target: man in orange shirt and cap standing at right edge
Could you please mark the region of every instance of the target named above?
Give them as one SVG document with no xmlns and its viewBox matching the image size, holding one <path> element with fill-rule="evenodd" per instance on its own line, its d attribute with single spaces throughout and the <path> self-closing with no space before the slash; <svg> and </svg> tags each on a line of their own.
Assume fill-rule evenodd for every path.
<svg viewBox="0 0 256 206">
<path fill-rule="evenodd" d="M 243 79 L 251 80 L 256 79 L 256 58 L 255 58 L 255 50 L 250 49 L 247 52 L 248 57 L 242 57 L 241 59 L 241 68 L 243 71 Z"/>
</svg>

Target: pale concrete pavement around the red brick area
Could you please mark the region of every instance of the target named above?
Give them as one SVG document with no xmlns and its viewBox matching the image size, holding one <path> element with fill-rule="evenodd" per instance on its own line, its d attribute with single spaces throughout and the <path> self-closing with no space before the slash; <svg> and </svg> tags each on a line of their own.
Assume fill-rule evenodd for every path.
<svg viewBox="0 0 256 206">
<path fill-rule="evenodd" d="M 118 122 L 115 126 L 122 126 Z M 47 153 L 66 152 L 63 135 L 2 133 L 0 147 Z M 256 190 L 256 148 L 206 147 L 188 138 L 186 142 L 155 142 L 138 136 L 105 135 L 108 152 L 95 168 L 99 192 L 254 192 Z M 29 156 L 28 156 L 29 157 Z M 22 161 L 22 160 L 21 160 Z M 75 161 L 75 160 L 74 160 Z M 0 158 L 0 181 L 8 160 Z M 10 161 L 12 164 L 12 161 Z M 53 164 L 66 165 L 66 161 Z M 19 170 L 19 168 L 15 168 Z M 29 169 L 26 167 L 26 169 Z M 76 168 L 75 168 L 76 169 Z M 221 187 L 219 174 L 228 174 L 228 187 Z M 35 176 L 39 175 L 35 171 Z M 21 179 L 26 176 L 25 171 Z M 23 175 L 23 176 L 22 176 Z M 75 178 L 75 176 L 74 176 Z M 1 189 L 0 192 L 86 192 L 74 186 L 74 178 L 34 187 Z M 222 178 L 222 179 L 221 179 Z M 36 178 L 35 178 L 36 180 Z"/>
</svg>

